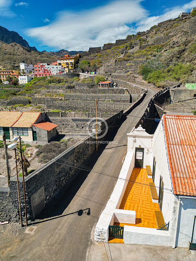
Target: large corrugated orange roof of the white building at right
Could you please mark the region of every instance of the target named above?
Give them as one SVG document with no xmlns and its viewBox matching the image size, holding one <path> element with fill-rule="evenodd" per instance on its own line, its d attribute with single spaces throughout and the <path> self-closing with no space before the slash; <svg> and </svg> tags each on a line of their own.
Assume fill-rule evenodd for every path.
<svg viewBox="0 0 196 261">
<path fill-rule="evenodd" d="M 196 116 L 163 115 L 174 194 L 196 196 Z"/>
</svg>

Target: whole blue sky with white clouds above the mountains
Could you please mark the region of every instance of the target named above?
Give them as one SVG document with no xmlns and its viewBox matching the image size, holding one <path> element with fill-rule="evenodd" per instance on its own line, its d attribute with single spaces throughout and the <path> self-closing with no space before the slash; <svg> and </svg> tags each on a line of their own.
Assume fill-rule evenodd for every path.
<svg viewBox="0 0 196 261">
<path fill-rule="evenodd" d="M 149 29 L 196 7 L 183 1 L 0 0 L 0 25 L 37 50 L 88 50 Z"/>
</svg>

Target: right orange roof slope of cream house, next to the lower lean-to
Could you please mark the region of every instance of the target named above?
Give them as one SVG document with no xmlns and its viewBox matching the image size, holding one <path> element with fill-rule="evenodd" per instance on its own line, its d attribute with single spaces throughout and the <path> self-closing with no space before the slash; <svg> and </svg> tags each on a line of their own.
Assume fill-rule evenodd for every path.
<svg viewBox="0 0 196 261">
<path fill-rule="evenodd" d="M 38 119 L 41 112 L 22 112 L 20 118 L 12 127 L 30 128 Z"/>
</svg>

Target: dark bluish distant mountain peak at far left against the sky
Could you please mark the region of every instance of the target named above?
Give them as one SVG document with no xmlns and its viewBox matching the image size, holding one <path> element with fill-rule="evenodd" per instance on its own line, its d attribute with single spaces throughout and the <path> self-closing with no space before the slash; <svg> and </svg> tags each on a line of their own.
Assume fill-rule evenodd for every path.
<svg viewBox="0 0 196 261">
<path fill-rule="evenodd" d="M 7 44 L 17 43 L 31 50 L 37 51 L 35 47 L 29 46 L 28 42 L 22 38 L 17 32 L 9 31 L 6 28 L 0 26 L 0 40 Z"/>
</svg>

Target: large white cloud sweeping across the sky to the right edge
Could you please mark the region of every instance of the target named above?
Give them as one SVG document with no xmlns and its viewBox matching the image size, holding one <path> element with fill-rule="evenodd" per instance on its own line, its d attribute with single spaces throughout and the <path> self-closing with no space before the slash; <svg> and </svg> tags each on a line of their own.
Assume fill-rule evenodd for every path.
<svg viewBox="0 0 196 261">
<path fill-rule="evenodd" d="M 103 46 L 104 43 L 124 39 L 128 34 L 147 30 L 161 20 L 169 19 L 169 16 L 165 18 L 168 10 L 162 15 L 150 17 L 141 6 L 141 1 L 112 1 L 97 9 L 62 11 L 49 25 L 30 28 L 27 34 L 53 49 L 82 50 L 83 47 L 83 50 L 88 50 L 90 46 Z M 171 12 L 194 5 L 196 0 L 173 7 Z M 177 17 L 179 14 L 173 13 L 171 17 Z"/>
</svg>

